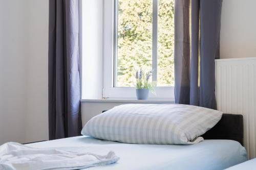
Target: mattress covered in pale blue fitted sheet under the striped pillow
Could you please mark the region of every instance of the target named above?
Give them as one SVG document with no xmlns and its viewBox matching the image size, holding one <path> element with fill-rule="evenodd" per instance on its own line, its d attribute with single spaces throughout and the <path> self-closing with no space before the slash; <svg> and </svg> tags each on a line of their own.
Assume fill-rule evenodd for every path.
<svg viewBox="0 0 256 170">
<path fill-rule="evenodd" d="M 28 145 L 100 155 L 114 151 L 120 157 L 117 163 L 90 167 L 90 170 L 225 169 L 247 160 L 245 148 L 233 140 L 204 140 L 192 145 L 155 145 L 119 143 L 77 136 Z"/>
</svg>

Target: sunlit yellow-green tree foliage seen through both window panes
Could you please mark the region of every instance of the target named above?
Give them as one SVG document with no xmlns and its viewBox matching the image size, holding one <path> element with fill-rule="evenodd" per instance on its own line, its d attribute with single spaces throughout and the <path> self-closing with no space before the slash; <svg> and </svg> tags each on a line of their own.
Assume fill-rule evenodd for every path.
<svg viewBox="0 0 256 170">
<path fill-rule="evenodd" d="M 135 70 L 152 70 L 152 0 L 118 1 L 117 86 L 135 84 Z M 174 0 L 158 0 L 158 86 L 174 85 Z M 156 70 L 153 70 L 156 71 Z"/>
</svg>

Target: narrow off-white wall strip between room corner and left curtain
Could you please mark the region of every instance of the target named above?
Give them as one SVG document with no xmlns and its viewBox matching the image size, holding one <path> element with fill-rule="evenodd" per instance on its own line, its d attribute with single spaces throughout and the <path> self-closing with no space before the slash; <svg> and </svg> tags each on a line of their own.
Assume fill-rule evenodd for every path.
<svg viewBox="0 0 256 170">
<path fill-rule="evenodd" d="M 28 72 L 26 142 L 48 139 L 49 1 L 27 0 Z"/>
</svg>

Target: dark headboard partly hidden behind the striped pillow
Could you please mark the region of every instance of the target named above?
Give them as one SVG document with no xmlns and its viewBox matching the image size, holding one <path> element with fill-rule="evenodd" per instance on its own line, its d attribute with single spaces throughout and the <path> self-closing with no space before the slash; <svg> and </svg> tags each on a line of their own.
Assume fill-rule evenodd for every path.
<svg viewBox="0 0 256 170">
<path fill-rule="evenodd" d="M 106 110 L 103 110 L 105 112 Z M 236 140 L 244 145 L 244 124 L 241 114 L 223 114 L 220 121 L 205 134 L 204 139 Z"/>
</svg>

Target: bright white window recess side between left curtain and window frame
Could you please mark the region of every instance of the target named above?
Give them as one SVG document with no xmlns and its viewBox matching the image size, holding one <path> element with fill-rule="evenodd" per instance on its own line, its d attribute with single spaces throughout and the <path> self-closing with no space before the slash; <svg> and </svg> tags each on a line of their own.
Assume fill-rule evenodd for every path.
<svg viewBox="0 0 256 170">
<path fill-rule="evenodd" d="M 101 99 L 102 94 L 102 55 L 103 55 L 103 1 L 83 0 L 82 3 L 82 98 Z"/>
</svg>

